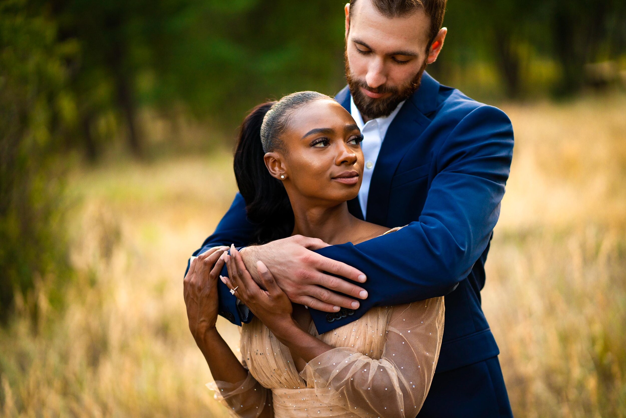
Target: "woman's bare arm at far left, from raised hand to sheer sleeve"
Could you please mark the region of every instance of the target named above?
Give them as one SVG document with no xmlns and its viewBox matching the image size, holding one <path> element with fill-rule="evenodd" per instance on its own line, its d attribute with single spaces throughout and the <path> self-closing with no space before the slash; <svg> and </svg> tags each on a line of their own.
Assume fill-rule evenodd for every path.
<svg viewBox="0 0 626 418">
<path fill-rule="evenodd" d="M 238 417 L 270 417 L 273 411 L 267 402 L 267 389 L 254 380 L 215 328 L 217 276 L 225 249 L 212 248 L 193 259 L 185 275 L 183 294 L 189 329 L 215 379 L 216 398 Z"/>
</svg>

